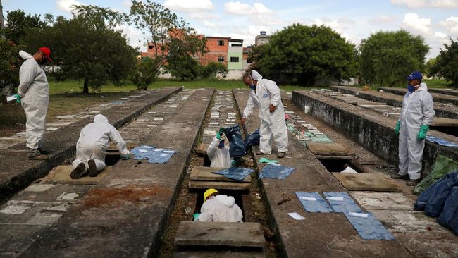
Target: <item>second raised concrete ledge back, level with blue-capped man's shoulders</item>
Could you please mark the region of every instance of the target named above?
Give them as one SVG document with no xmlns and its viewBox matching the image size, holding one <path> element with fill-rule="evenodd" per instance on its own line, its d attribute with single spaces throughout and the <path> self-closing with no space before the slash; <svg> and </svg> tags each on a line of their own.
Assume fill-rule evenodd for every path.
<svg viewBox="0 0 458 258">
<path fill-rule="evenodd" d="M 371 90 L 362 90 L 357 87 L 348 86 L 331 86 L 331 90 L 342 92 L 345 94 L 358 94 L 357 97 L 367 99 L 372 102 L 386 103 L 390 106 L 402 107 L 402 99 L 404 97 L 390 92 L 376 92 Z M 442 118 L 458 119 L 458 106 L 444 106 L 443 104 L 435 103 L 435 116 Z"/>
</svg>

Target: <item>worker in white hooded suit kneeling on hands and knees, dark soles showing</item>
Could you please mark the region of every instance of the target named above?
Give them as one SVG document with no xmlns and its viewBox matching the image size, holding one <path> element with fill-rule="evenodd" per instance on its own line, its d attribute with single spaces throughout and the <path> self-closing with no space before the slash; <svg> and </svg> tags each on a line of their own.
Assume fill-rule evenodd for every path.
<svg viewBox="0 0 458 258">
<path fill-rule="evenodd" d="M 76 159 L 73 161 L 72 179 L 78 179 L 89 172 L 89 176 L 97 176 L 105 168 L 106 149 L 112 141 L 118 147 L 121 159 L 129 159 L 130 152 L 125 147 L 123 137 L 105 116 L 97 115 L 94 123 L 81 129 L 80 139 L 76 144 Z"/>
</svg>

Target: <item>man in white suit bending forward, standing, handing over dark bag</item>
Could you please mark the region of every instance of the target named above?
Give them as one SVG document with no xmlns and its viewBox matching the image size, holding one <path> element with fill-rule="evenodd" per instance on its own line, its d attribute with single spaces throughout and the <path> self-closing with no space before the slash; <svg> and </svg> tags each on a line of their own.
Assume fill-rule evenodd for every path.
<svg viewBox="0 0 458 258">
<path fill-rule="evenodd" d="M 272 140 L 274 140 L 278 148 L 277 156 L 283 158 L 287 152 L 288 135 L 280 89 L 276 82 L 263 79 L 256 70 L 252 70 L 251 75 L 245 75 L 243 82 L 251 90 L 240 123 L 245 123 L 254 107 L 259 106 L 259 118 L 261 118 L 259 135 L 261 138 L 259 152 L 256 154 L 271 154 Z"/>
</svg>

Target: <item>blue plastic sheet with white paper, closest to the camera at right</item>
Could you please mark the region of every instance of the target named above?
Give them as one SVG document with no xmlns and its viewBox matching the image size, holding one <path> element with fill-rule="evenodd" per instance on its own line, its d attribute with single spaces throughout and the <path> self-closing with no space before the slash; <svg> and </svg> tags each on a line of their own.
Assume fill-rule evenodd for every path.
<svg viewBox="0 0 458 258">
<path fill-rule="evenodd" d="M 395 240 L 395 237 L 374 217 L 370 212 L 367 218 L 359 216 L 351 216 L 349 212 L 345 212 L 345 216 L 352 224 L 353 228 L 358 232 L 364 240 Z"/>
</svg>

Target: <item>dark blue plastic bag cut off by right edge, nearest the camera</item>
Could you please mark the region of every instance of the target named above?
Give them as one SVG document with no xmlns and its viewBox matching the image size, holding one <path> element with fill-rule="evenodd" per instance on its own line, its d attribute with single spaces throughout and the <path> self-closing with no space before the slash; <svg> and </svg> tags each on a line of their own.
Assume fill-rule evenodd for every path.
<svg viewBox="0 0 458 258">
<path fill-rule="evenodd" d="M 451 228 L 455 235 L 458 235 L 458 186 L 450 190 L 438 223 L 446 228 Z"/>
</svg>

